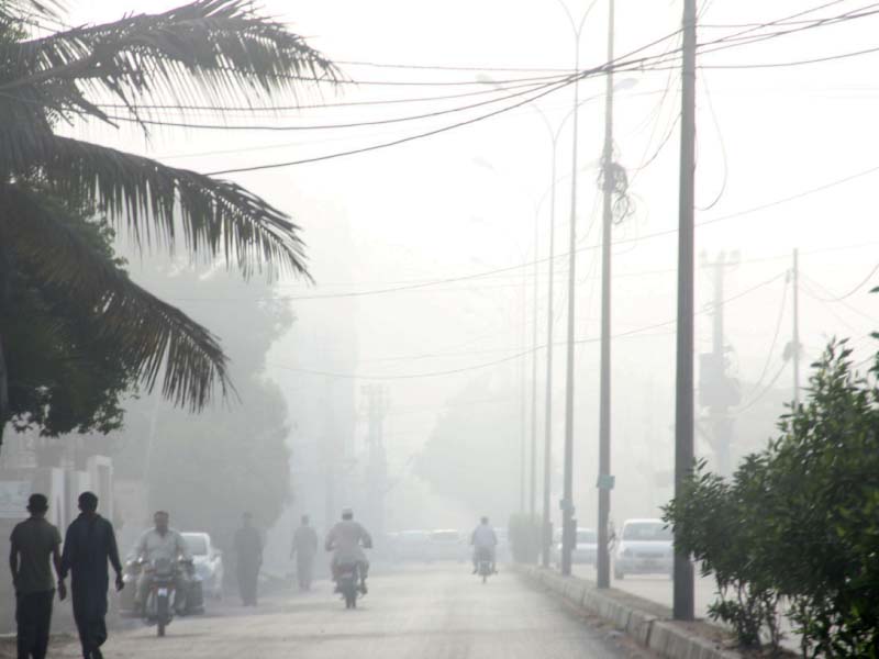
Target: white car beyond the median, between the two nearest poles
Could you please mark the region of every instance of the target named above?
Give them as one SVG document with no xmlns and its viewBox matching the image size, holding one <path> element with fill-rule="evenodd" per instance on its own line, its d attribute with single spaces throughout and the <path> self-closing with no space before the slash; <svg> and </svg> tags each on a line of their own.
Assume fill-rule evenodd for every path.
<svg viewBox="0 0 879 659">
<path fill-rule="evenodd" d="M 613 557 L 614 579 L 626 574 L 671 574 L 671 528 L 661 520 L 626 520 Z"/>
</svg>

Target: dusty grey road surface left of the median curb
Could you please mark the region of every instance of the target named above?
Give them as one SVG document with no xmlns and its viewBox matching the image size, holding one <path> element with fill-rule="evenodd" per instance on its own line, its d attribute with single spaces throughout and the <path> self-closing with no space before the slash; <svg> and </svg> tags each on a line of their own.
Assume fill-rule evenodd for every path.
<svg viewBox="0 0 879 659">
<path fill-rule="evenodd" d="M 466 566 L 436 565 L 375 574 L 356 611 L 330 593 L 264 599 L 258 610 L 224 604 L 176 619 L 165 638 L 135 626 L 111 634 L 110 658 L 192 659 L 585 659 L 650 657 L 625 637 L 502 572 L 482 585 Z M 77 657 L 66 645 L 53 656 Z"/>
</svg>

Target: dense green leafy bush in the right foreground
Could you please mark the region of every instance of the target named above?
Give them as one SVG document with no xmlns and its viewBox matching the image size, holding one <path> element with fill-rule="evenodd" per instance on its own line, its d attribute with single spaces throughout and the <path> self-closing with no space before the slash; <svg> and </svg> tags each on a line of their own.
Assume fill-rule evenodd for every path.
<svg viewBox="0 0 879 659">
<path fill-rule="evenodd" d="M 697 465 L 665 509 L 743 646 L 778 649 L 783 604 L 803 657 L 879 657 L 879 355 L 850 356 L 832 343 L 766 450 L 731 481 Z"/>
</svg>

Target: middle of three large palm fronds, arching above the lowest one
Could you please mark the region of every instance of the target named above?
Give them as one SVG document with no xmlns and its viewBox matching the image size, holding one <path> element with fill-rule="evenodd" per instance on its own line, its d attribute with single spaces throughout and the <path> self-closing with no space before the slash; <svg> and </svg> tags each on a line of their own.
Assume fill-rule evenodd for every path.
<svg viewBox="0 0 879 659">
<path fill-rule="evenodd" d="M 27 139 L 0 129 L 2 136 Z M 222 255 L 245 277 L 264 270 L 269 277 L 285 270 L 309 276 L 299 226 L 236 183 L 51 134 L 0 153 L 0 170 L 11 155 L 16 160 L 9 170 L 30 172 L 58 197 L 82 199 L 118 224 L 126 222 L 138 241 L 173 249 L 177 216 L 191 254 Z"/>
</svg>

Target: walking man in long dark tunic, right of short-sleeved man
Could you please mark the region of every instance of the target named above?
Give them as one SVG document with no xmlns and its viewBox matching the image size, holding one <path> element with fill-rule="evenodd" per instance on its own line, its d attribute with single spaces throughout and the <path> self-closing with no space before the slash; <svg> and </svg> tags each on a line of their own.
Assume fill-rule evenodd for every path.
<svg viewBox="0 0 879 659">
<path fill-rule="evenodd" d="M 121 591 L 124 587 L 122 562 L 113 525 L 98 514 L 98 496 L 82 492 L 79 511 L 64 538 L 59 584 L 64 584 L 68 572 L 73 573 L 74 621 L 82 645 L 82 657 L 102 659 L 101 646 L 107 640 L 107 590 L 110 585 L 107 563 L 113 566 L 116 591 Z"/>
</svg>

